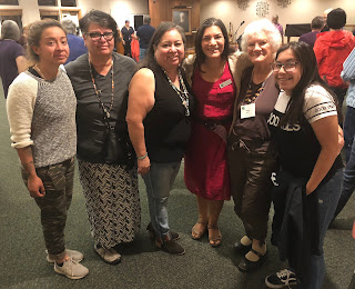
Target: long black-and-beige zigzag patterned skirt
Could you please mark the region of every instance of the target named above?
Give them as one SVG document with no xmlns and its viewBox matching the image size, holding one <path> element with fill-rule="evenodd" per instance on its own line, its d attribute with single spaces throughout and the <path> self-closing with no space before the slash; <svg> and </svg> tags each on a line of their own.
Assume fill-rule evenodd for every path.
<svg viewBox="0 0 355 289">
<path fill-rule="evenodd" d="M 136 168 L 78 162 L 94 242 L 112 248 L 133 241 L 141 225 Z"/>
</svg>

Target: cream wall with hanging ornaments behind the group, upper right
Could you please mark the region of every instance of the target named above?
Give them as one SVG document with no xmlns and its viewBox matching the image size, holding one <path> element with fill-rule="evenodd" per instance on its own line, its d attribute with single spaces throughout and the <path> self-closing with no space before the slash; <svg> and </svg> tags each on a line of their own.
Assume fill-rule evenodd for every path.
<svg viewBox="0 0 355 289">
<path fill-rule="evenodd" d="M 291 0 L 287 8 L 277 6 L 276 0 L 250 0 L 246 10 L 242 10 L 237 6 L 236 0 L 200 0 L 202 22 L 209 17 L 220 18 L 226 28 L 230 22 L 233 31 L 244 20 L 245 23 L 240 28 L 237 36 L 244 31 L 247 23 L 258 20 L 263 17 L 256 14 L 256 3 L 267 2 L 268 14 L 264 18 L 271 19 L 273 14 L 278 14 L 278 22 L 285 28 L 286 24 L 311 23 L 316 16 L 322 16 L 327 8 L 343 8 L 347 14 L 347 23 L 355 24 L 355 6 L 354 0 Z"/>
</svg>

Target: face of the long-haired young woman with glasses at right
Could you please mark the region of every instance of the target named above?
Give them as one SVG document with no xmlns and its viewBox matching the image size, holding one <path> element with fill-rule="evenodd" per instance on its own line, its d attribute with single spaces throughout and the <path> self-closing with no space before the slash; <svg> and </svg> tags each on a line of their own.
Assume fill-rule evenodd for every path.
<svg viewBox="0 0 355 289">
<path fill-rule="evenodd" d="M 286 49 L 278 53 L 276 62 L 285 64 L 288 62 L 297 62 L 294 69 L 285 71 L 284 67 L 280 71 L 274 71 L 275 80 L 280 88 L 283 89 L 288 96 L 292 90 L 297 86 L 302 77 L 302 67 L 291 49 Z"/>
</svg>

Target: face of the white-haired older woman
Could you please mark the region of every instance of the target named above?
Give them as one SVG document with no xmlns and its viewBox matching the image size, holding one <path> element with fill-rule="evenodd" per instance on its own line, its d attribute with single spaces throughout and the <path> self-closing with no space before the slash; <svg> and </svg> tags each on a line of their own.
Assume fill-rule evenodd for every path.
<svg viewBox="0 0 355 289">
<path fill-rule="evenodd" d="M 270 64 L 273 62 L 274 51 L 273 47 L 267 40 L 264 31 L 251 34 L 247 38 L 247 54 L 254 64 Z"/>
</svg>

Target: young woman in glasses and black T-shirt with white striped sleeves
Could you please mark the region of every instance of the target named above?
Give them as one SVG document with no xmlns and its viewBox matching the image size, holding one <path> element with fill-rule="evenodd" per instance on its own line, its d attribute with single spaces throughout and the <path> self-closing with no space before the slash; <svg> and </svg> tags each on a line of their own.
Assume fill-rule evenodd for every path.
<svg viewBox="0 0 355 289">
<path fill-rule="evenodd" d="M 325 263 L 323 242 L 341 195 L 343 162 L 338 144 L 336 96 L 321 79 L 312 48 L 291 42 L 278 49 L 272 64 L 282 92 L 267 123 L 281 170 L 306 180 L 308 197 L 317 198 L 318 255 L 311 256 L 305 289 L 321 289 Z M 313 196 L 312 196 L 313 195 Z M 292 265 L 291 265 L 292 266 Z M 294 285 L 296 272 L 285 269 L 266 277 L 268 288 Z"/>
</svg>

